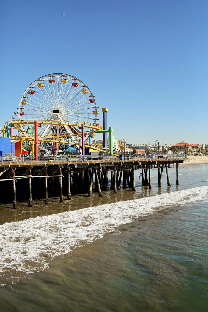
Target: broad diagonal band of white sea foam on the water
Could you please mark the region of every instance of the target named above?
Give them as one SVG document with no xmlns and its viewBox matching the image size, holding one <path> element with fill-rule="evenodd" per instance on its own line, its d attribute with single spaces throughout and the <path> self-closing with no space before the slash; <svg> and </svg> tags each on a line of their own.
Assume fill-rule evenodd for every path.
<svg viewBox="0 0 208 312">
<path fill-rule="evenodd" d="M 54 257 L 102 238 L 122 224 L 172 205 L 204 200 L 208 186 L 117 202 L 0 226 L 0 280 L 48 268 Z M 1 283 L 1 281 L 0 281 Z"/>
</svg>

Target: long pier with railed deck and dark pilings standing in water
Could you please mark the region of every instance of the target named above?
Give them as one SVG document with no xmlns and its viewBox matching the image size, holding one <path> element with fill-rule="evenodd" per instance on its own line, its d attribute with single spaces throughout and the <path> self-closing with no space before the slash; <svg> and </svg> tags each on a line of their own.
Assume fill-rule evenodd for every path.
<svg viewBox="0 0 208 312">
<path fill-rule="evenodd" d="M 152 188 L 152 169 L 158 170 L 158 187 L 162 186 L 163 170 L 166 170 L 167 186 L 170 187 L 169 168 L 176 164 L 176 184 L 179 185 L 178 164 L 186 156 L 115 156 L 102 155 L 97 159 L 89 156 L 61 156 L 59 158 L 38 156 L 23 159 L 22 157 L 3 158 L 0 160 L 1 202 L 12 202 L 17 208 L 17 201 L 27 200 L 32 207 L 32 200 L 59 196 L 60 202 L 70 200 L 71 196 L 86 193 L 91 197 L 94 191 L 102 196 L 107 190 L 108 173 L 110 172 L 110 189 L 117 193 L 121 188 L 132 188 L 135 191 L 135 170 L 141 170 L 142 186 Z M 148 174 L 149 173 L 149 174 Z M 123 183 L 121 185 L 121 180 Z M 12 181 L 9 182 L 9 181 Z M 17 183 L 18 181 L 18 183 Z M 8 197 L 8 194 L 9 197 Z"/>
</svg>

